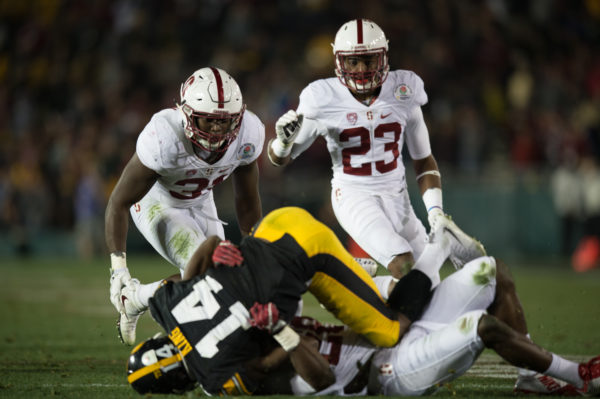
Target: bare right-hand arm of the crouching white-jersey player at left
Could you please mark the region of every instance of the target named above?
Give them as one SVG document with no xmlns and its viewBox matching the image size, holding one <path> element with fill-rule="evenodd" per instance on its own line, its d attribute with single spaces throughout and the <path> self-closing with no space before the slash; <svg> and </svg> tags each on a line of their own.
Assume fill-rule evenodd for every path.
<svg viewBox="0 0 600 399">
<path fill-rule="evenodd" d="M 236 168 L 232 174 L 235 212 L 242 236 L 247 236 L 262 217 L 256 161 Z"/>
</svg>

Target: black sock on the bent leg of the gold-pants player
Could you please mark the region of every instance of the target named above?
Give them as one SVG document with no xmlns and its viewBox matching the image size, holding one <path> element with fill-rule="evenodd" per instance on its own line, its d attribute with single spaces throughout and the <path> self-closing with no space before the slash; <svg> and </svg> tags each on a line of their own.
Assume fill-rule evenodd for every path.
<svg viewBox="0 0 600 399">
<path fill-rule="evenodd" d="M 420 270 L 411 270 L 396 283 L 388 304 L 410 321 L 418 320 L 431 299 L 431 280 Z"/>
</svg>

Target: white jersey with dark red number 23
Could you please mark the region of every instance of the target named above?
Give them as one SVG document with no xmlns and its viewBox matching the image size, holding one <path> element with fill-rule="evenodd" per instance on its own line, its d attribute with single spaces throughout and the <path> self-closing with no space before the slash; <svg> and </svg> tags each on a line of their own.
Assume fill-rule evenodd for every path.
<svg viewBox="0 0 600 399">
<path fill-rule="evenodd" d="M 331 155 L 333 183 L 379 191 L 404 185 L 402 147 L 413 159 L 431 154 L 420 107 L 427 103 L 423 80 L 414 72 L 391 71 L 379 97 L 367 106 L 338 78 L 317 80 L 300 94 L 304 123 L 292 158 L 323 136 Z"/>
</svg>

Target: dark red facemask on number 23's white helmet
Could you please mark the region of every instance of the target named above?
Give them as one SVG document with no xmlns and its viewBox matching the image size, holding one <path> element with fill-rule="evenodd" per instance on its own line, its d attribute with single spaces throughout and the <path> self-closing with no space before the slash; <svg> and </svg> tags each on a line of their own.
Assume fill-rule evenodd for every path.
<svg viewBox="0 0 600 399">
<path fill-rule="evenodd" d="M 366 70 L 352 71 L 357 60 L 364 61 Z M 335 53 L 335 73 L 342 84 L 353 92 L 370 93 L 380 87 L 389 71 L 385 49 L 338 51 Z"/>
</svg>

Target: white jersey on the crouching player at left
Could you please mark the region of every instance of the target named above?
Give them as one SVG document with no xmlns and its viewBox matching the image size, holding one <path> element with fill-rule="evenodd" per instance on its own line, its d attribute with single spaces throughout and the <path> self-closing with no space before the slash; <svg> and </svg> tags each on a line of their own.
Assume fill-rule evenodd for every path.
<svg viewBox="0 0 600 399">
<path fill-rule="evenodd" d="M 195 155 L 184 126 L 183 112 L 164 109 L 154 114 L 136 145 L 140 161 L 160 175 L 147 195 L 176 208 L 201 204 L 212 188 L 227 179 L 235 168 L 255 161 L 265 140 L 264 125 L 246 110 L 238 137 L 221 159 L 209 164 Z"/>
</svg>

